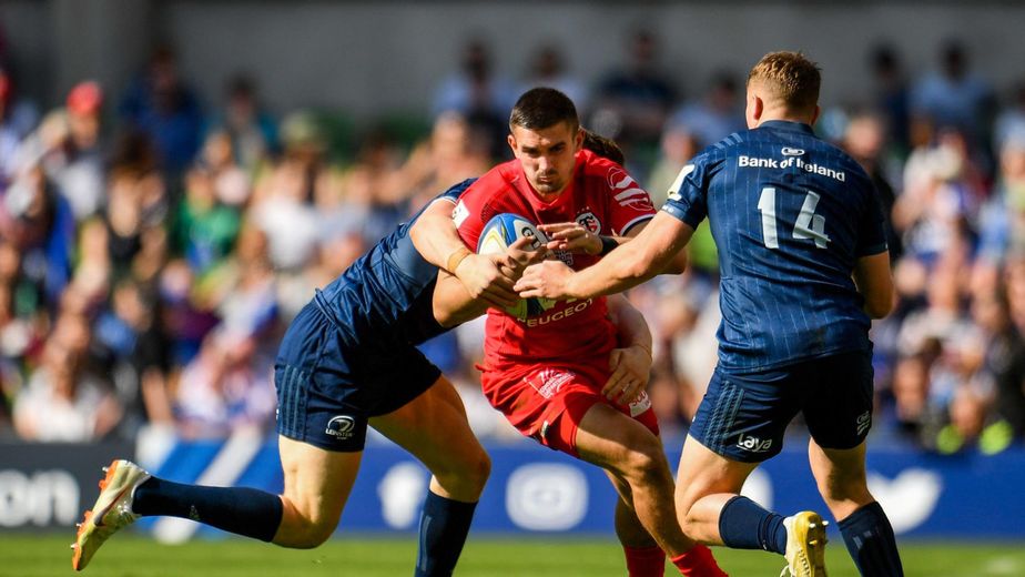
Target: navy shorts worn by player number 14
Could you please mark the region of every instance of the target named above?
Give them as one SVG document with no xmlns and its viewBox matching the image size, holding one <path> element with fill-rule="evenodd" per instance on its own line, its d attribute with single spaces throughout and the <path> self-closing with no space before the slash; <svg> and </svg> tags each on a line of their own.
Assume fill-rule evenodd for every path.
<svg viewBox="0 0 1025 577">
<path fill-rule="evenodd" d="M 821 447 L 853 448 L 872 426 L 872 377 L 866 351 L 754 373 L 717 367 L 690 436 L 729 459 L 761 463 L 783 448 L 800 412 Z"/>
</svg>

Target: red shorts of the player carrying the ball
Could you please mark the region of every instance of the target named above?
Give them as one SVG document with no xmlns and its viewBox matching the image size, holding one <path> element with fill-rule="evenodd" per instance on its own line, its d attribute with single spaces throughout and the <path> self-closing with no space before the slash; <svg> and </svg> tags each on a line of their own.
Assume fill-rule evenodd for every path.
<svg viewBox="0 0 1025 577">
<path fill-rule="evenodd" d="M 619 405 L 601 394 L 609 379 L 608 356 L 589 363 L 517 365 L 506 371 L 488 370 L 481 376 L 484 395 L 491 406 L 525 436 L 541 445 L 577 456 L 577 427 L 583 415 L 605 403 L 631 416 L 659 434 L 658 418 L 645 393 L 629 405 Z"/>
</svg>

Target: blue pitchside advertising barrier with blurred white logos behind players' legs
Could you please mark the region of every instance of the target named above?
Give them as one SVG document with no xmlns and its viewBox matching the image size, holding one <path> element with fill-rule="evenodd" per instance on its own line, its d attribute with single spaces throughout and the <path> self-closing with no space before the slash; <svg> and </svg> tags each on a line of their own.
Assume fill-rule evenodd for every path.
<svg viewBox="0 0 1025 577">
<path fill-rule="evenodd" d="M 794 438 L 788 445 L 752 475 L 745 494 L 784 514 L 824 510 L 804 443 Z M 680 443 L 667 446 L 676 470 Z M 528 441 L 486 448 L 493 469 L 477 507 L 475 532 L 611 536 L 616 495 L 597 467 Z M 6 444 L 0 445 L 0 532 L 59 528 L 72 535 L 82 509 L 97 496 L 100 466 L 114 456 L 133 456 L 155 474 L 177 482 L 245 485 L 275 493 L 282 487 L 275 438 L 251 432 L 217 442 L 150 437 L 135 447 Z M 339 535 L 415 532 L 428 478 L 407 453 L 372 438 Z M 877 444 L 869 453 L 869 479 L 901 536 L 1025 538 L 1025 448 L 1021 446 L 992 456 L 938 456 Z M 138 527 L 169 543 L 222 535 L 173 518 L 145 518 Z"/>
</svg>

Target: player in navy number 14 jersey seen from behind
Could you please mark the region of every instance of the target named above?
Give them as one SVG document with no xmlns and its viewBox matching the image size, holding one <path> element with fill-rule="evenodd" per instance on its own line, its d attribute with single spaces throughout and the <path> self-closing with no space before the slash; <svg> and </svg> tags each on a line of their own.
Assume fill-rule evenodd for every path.
<svg viewBox="0 0 1025 577">
<path fill-rule="evenodd" d="M 748 77 L 750 130 L 683 168 L 633 241 L 572 272 L 529 267 L 524 297 L 588 298 L 660 271 L 708 216 L 719 247 L 719 364 L 683 445 L 677 514 L 708 544 L 783 554 L 792 575 L 825 575 L 825 528 L 740 496 L 777 455 L 800 412 L 823 499 L 862 575 L 902 575 L 893 529 L 865 480 L 872 424 L 870 318 L 892 307 L 890 256 L 875 190 L 857 163 L 818 139 L 819 68 L 767 54 Z"/>
</svg>

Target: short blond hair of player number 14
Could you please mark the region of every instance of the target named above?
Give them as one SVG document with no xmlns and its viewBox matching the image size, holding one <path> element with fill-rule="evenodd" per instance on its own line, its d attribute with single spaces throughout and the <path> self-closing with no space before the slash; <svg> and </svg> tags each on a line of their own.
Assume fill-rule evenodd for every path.
<svg viewBox="0 0 1025 577">
<path fill-rule="evenodd" d="M 800 52 L 770 52 L 748 74 L 748 85 L 760 84 L 788 109 L 808 112 L 819 105 L 822 85 L 819 64 Z"/>
</svg>

